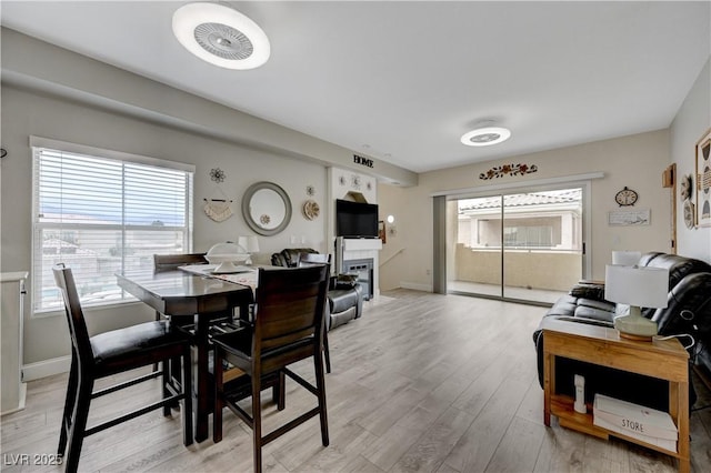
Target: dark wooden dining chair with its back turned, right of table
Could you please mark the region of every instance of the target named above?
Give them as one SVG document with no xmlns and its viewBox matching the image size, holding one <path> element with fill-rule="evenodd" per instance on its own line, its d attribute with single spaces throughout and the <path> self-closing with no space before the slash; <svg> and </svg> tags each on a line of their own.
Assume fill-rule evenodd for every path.
<svg viewBox="0 0 711 473">
<path fill-rule="evenodd" d="M 323 304 L 329 282 L 329 266 L 259 270 L 257 313 L 251 324 L 242 322 L 241 330 L 216 335 L 216 403 L 213 441 L 222 440 L 222 409 L 227 405 L 252 429 L 254 472 L 262 469 L 262 446 L 319 415 L 321 442 L 329 444 L 323 374 Z M 288 365 L 313 358 L 316 385 L 292 372 Z M 227 390 L 222 383 L 226 364 L 244 371 L 252 400 L 251 414 L 238 402 L 244 399 L 239 389 Z M 292 421 L 262 434 L 260 392 L 264 378 L 289 376 L 318 399 L 318 405 Z M 282 381 L 283 383 L 283 381 Z M 280 405 L 282 407 L 283 405 Z"/>
</svg>

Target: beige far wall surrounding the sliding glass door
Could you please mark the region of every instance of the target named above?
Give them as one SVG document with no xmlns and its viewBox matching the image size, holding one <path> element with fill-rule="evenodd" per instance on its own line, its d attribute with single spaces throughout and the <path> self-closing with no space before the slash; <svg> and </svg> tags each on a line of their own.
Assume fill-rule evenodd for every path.
<svg viewBox="0 0 711 473">
<path fill-rule="evenodd" d="M 479 174 L 495 165 L 525 163 L 537 165 L 538 172 L 507 177 L 494 182 L 480 180 Z M 603 173 L 603 178 L 590 182 L 591 238 L 587 251 L 591 258 L 588 278 L 603 279 L 604 266 L 613 250 L 670 251 L 669 191 L 661 187 L 661 172 L 669 165 L 669 130 L 633 134 L 575 147 L 559 148 L 492 162 L 473 163 L 459 168 L 422 173 L 417 187 L 398 189 L 381 185 L 378 203 L 385 213 L 398 221 L 398 234 L 388 240 L 381 258 L 388 265 L 381 268 L 380 289 L 431 286 L 432 221 L 431 212 L 418 212 L 431 208 L 433 194 L 457 194 L 459 190 L 478 188 L 490 190 L 497 185 L 532 185 L 547 179 L 568 179 L 588 173 Z M 618 210 L 614 194 L 624 187 L 639 192 L 635 209 L 651 210 L 651 224 L 612 227 L 608 212 Z M 392 244 L 391 244 L 392 243 Z M 403 250 L 389 259 L 391 251 Z M 453 250 L 453 249 L 449 249 Z M 383 254 L 384 253 L 384 254 Z"/>
</svg>

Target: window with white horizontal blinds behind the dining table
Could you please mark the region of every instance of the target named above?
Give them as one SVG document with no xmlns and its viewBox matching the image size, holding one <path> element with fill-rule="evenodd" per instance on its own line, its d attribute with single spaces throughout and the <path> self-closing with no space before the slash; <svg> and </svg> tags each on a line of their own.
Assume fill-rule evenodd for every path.
<svg viewBox="0 0 711 473">
<path fill-rule="evenodd" d="M 33 312 L 62 306 L 52 266 L 72 269 L 82 304 L 123 301 L 117 271 L 192 248 L 194 169 L 32 137 Z"/>
</svg>

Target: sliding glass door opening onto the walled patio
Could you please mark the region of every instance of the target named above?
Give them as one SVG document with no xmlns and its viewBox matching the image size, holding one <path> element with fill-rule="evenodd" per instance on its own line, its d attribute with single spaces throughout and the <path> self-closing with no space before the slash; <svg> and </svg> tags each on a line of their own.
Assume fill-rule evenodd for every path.
<svg viewBox="0 0 711 473">
<path fill-rule="evenodd" d="M 554 302 L 583 275 L 583 189 L 448 202 L 448 292 Z"/>
</svg>

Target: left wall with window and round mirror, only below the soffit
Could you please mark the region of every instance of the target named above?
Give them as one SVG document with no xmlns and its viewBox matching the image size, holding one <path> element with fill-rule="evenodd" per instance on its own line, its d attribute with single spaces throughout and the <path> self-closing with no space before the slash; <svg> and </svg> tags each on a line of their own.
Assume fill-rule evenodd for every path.
<svg viewBox="0 0 711 473">
<path fill-rule="evenodd" d="M 32 159 L 29 135 L 60 139 L 80 144 L 120 150 L 152 158 L 196 165 L 194 250 L 207 251 L 212 244 L 236 240 L 240 234 L 253 234 L 240 212 L 241 195 L 257 181 L 281 185 L 293 205 L 291 223 L 274 236 L 259 236 L 263 258 L 291 244 L 320 251 L 327 250 L 326 219 L 309 221 L 300 207 L 308 199 L 306 188 L 317 190 L 313 199 L 323 209 L 327 171 L 323 165 L 283 155 L 239 147 L 198 134 L 151 124 L 128 117 L 108 113 L 61 99 L 38 95 L 11 87 L 2 88 L 2 145 L 9 151 L 2 160 L 2 271 L 30 270 Z M 210 179 L 210 170 L 220 168 L 227 178 L 221 184 Z M 214 222 L 202 211 L 203 198 L 224 192 L 232 199 L 234 214 Z M 301 243 L 303 240 L 304 243 Z M 28 285 L 31 296 L 31 281 Z M 24 319 L 24 363 L 34 363 L 69 353 L 63 316 L 34 318 L 29 305 Z M 138 304 L 116 311 L 89 312 L 92 331 L 103 331 L 152 318 Z M 60 335 L 61 334 L 61 335 Z"/>
</svg>

